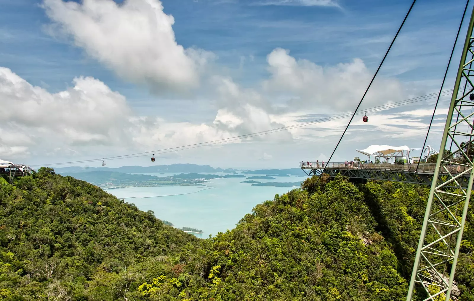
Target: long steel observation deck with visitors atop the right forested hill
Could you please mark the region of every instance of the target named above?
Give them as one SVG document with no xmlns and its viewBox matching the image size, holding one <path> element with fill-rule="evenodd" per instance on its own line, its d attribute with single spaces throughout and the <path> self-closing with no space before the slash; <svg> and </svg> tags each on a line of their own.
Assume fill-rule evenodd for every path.
<svg viewBox="0 0 474 301">
<path fill-rule="evenodd" d="M 301 162 L 300 168 L 308 176 L 320 176 L 322 173 L 329 177 L 336 177 L 337 174 L 359 179 L 362 182 L 366 180 L 394 181 L 409 184 L 429 185 L 433 182 L 433 176 L 436 164 L 420 163 L 417 169 L 417 163 L 357 163 L 348 165 L 344 162 L 329 163 L 326 168 L 322 162 Z M 326 163 L 325 163 L 326 164 Z M 467 188 L 469 185 L 470 168 L 462 163 L 453 162 L 440 170 L 438 175 L 439 183 L 446 179 L 450 182 L 445 187 L 457 188 L 462 186 Z M 445 180 L 441 181 L 441 177 Z M 437 182 L 438 182 L 437 181 Z M 474 189 L 474 185 L 473 185 Z"/>
</svg>

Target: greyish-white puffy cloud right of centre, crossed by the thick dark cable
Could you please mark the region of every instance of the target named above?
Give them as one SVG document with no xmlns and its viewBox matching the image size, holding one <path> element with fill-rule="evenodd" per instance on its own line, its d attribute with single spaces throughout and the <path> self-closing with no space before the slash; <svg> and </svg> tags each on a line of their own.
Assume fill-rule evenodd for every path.
<svg viewBox="0 0 474 301">
<path fill-rule="evenodd" d="M 355 106 L 372 79 L 364 62 L 354 59 L 349 63 L 322 67 L 308 60 L 296 60 L 285 49 L 276 48 L 267 56 L 270 79 L 264 89 L 270 93 L 292 95 L 289 105 L 294 109 L 310 106 L 347 111 Z M 401 83 L 394 78 L 376 79 L 365 97 L 366 106 L 392 102 L 407 97 Z"/>
</svg>

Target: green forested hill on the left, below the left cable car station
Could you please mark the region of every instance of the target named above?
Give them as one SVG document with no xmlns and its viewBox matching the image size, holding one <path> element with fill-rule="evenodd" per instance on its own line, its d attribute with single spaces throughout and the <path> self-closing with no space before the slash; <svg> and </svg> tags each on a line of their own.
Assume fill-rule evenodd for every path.
<svg viewBox="0 0 474 301">
<path fill-rule="evenodd" d="M 123 300 L 196 240 L 49 168 L 0 181 L 0 300 Z"/>
</svg>

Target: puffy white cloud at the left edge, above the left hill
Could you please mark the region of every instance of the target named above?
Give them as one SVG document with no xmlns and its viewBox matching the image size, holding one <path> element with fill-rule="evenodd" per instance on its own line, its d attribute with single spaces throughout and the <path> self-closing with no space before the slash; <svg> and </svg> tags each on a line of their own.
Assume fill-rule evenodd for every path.
<svg viewBox="0 0 474 301">
<path fill-rule="evenodd" d="M 125 97 L 90 77 L 51 94 L 0 67 L 0 105 L 12 114 L 0 119 L 2 143 L 26 147 L 45 136 L 74 144 L 113 144 L 121 140 L 130 109 Z M 24 150 L 26 151 L 26 149 Z"/>
</svg>

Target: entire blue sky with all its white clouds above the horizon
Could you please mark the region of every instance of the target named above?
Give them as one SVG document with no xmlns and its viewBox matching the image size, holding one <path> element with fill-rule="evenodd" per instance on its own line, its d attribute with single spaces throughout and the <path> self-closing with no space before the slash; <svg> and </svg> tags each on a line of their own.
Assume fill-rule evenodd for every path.
<svg viewBox="0 0 474 301">
<path fill-rule="evenodd" d="M 0 0 L 0 159 L 94 167 L 150 152 L 105 162 L 250 169 L 327 160 L 410 5 Z M 362 116 L 439 91 L 464 7 L 416 2 L 333 162 L 371 144 L 422 147 L 436 96 L 368 112 L 368 123 Z M 454 85 L 463 29 L 445 90 Z M 435 149 L 449 98 L 428 136 Z M 211 141 L 219 143 L 198 144 Z M 194 147 L 180 149 L 186 145 Z"/>
</svg>

